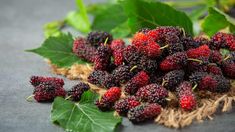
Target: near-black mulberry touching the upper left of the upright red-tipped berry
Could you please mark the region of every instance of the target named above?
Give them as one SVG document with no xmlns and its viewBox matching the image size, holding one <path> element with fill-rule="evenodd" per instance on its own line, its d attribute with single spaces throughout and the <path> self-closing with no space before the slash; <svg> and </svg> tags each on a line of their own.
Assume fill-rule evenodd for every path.
<svg viewBox="0 0 235 132">
<path fill-rule="evenodd" d="M 183 70 L 170 71 L 163 77 L 163 86 L 167 89 L 174 91 L 176 86 L 184 80 Z"/>
</svg>

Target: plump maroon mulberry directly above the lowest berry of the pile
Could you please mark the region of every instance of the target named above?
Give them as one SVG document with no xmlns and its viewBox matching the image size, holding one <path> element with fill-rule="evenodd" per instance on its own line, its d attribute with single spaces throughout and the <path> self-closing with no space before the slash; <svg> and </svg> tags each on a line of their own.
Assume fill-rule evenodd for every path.
<svg viewBox="0 0 235 132">
<path fill-rule="evenodd" d="M 149 84 L 139 88 L 136 92 L 136 97 L 141 101 L 158 103 L 165 107 L 167 105 L 166 97 L 168 97 L 168 91 L 158 84 Z"/>
</svg>

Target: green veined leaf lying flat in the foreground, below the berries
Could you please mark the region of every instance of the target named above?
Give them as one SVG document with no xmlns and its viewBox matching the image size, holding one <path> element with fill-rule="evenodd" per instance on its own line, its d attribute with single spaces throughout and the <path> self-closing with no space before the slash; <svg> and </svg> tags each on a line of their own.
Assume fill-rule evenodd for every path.
<svg viewBox="0 0 235 132">
<path fill-rule="evenodd" d="M 113 112 L 101 112 L 94 105 L 98 95 L 87 91 L 79 103 L 57 97 L 52 105 L 52 122 L 69 132 L 111 132 L 121 123 Z"/>
</svg>

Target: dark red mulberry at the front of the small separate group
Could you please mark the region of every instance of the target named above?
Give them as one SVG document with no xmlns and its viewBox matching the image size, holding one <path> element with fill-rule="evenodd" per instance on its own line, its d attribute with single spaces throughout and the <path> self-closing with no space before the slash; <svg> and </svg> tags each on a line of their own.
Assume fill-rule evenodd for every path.
<svg viewBox="0 0 235 132">
<path fill-rule="evenodd" d="M 62 86 L 45 82 L 36 86 L 33 94 L 37 102 L 52 102 L 57 96 L 65 97 L 66 91 Z"/>
</svg>

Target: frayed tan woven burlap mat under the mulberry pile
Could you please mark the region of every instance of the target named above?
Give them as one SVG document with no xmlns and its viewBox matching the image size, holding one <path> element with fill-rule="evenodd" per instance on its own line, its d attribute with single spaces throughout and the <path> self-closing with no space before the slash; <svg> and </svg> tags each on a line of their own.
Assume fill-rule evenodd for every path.
<svg viewBox="0 0 235 132">
<path fill-rule="evenodd" d="M 50 64 L 50 62 L 48 62 Z M 92 72 L 90 64 L 74 64 L 70 68 L 57 68 L 50 64 L 51 71 L 58 75 L 63 75 L 71 80 L 81 80 L 87 82 L 88 75 Z M 87 82 L 88 83 L 88 82 Z M 197 92 L 198 106 L 194 111 L 187 112 L 178 108 L 175 94 L 169 93 L 169 105 L 162 109 L 161 114 L 155 122 L 166 127 L 182 128 L 192 124 L 193 121 L 203 122 L 205 119 L 213 120 L 216 112 L 227 112 L 232 109 L 235 102 L 235 81 L 232 82 L 231 91 L 225 94 L 215 94 L 211 92 Z M 99 94 L 106 90 L 90 84 L 91 89 Z M 125 95 L 122 94 L 122 97 Z"/>
</svg>

